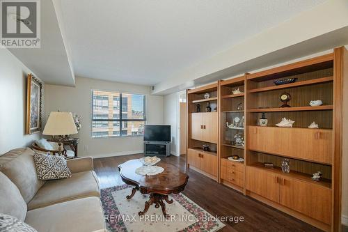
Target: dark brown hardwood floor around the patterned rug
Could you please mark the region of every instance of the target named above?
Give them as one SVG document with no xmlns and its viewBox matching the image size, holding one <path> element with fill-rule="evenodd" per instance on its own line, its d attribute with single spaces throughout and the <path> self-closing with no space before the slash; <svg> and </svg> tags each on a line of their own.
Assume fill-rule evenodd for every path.
<svg viewBox="0 0 348 232">
<path fill-rule="evenodd" d="M 101 188 L 124 184 L 118 173 L 118 164 L 143 157 L 143 154 L 106 157 L 94 160 L 94 169 Z M 185 169 L 185 156 L 162 157 L 162 160 Z M 185 196 L 196 202 L 213 216 L 244 217 L 244 222 L 224 222 L 220 231 L 320 231 L 299 219 L 291 217 L 235 190 L 216 183 L 202 174 L 188 170 L 189 183 Z M 120 199 L 121 200 L 121 199 Z"/>
</svg>

